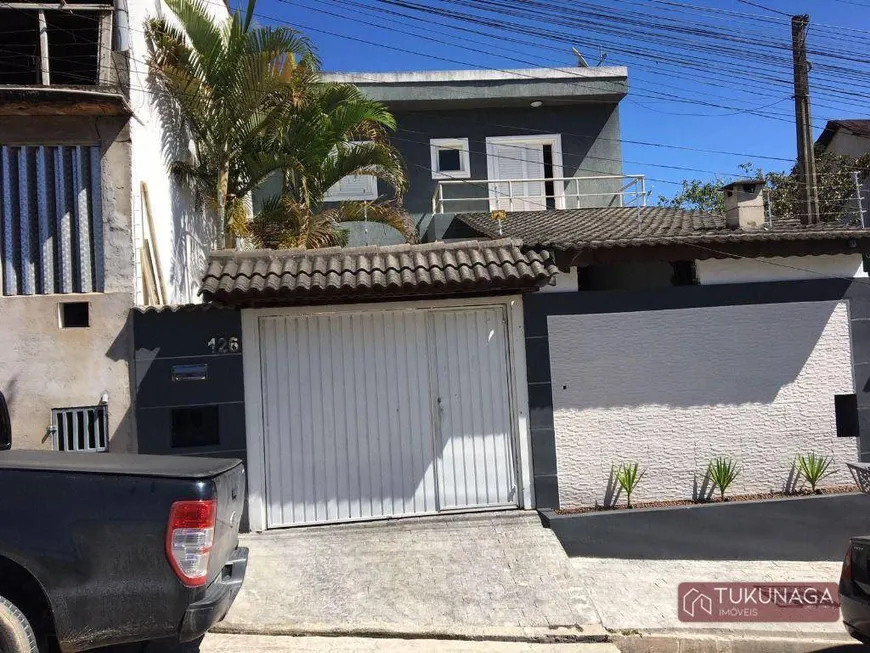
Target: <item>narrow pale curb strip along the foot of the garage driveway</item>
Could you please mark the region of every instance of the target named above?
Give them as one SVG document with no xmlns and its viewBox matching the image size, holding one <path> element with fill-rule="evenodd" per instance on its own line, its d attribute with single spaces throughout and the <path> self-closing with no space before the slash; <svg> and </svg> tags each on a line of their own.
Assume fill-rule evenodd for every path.
<svg viewBox="0 0 870 653">
<path fill-rule="evenodd" d="M 578 644 L 610 642 L 610 634 L 600 624 L 522 628 L 469 626 L 467 628 L 401 628 L 391 625 L 341 627 L 326 624 L 251 624 L 219 623 L 210 632 L 224 635 L 273 635 L 283 637 L 366 637 L 379 639 L 440 639 L 469 642 L 527 642 L 530 644 Z"/>
</svg>

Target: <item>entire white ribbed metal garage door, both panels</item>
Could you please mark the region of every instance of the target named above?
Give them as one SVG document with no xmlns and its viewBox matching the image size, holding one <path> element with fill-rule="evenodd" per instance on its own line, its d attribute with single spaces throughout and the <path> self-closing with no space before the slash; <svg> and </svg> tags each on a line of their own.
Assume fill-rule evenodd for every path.
<svg viewBox="0 0 870 653">
<path fill-rule="evenodd" d="M 516 505 L 503 309 L 259 328 L 269 527 Z"/>
</svg>

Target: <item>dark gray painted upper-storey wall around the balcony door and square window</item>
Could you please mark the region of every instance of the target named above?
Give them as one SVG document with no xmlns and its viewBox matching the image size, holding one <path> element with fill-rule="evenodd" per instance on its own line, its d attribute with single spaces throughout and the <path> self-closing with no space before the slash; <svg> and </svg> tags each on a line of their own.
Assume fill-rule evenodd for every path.
<svg viewBox="0 0 870 653">
<path fill-rule="evenodd" d="M 439 216 L 434 222 L 432 220 L 432 195 L 437 184 L 431 171 L 429 140 L 432 138 L 468 138 L 472 180 L 487 178 L 487 137 L 540 134 L 562 135 L 566 177 L 623 174 L 617 104 L 397 111 L 395 116 L 399 128 L 392 135 L 391 143 L 405 158 L 411 182 L 404 204 L 418 225 L 423 240 L 467 235 L 461 230 L 448 231 L 452 216 Z M 583 192 L 615 192 L 618 189 L 618 182 L 595 182 L 595 189 L 590 182 L 584 184 Z M 384 195 L 389 193 L 389 188 L 382 183 L 379 191 Z M 485 186 L 475 188 L 462 184 L 454 186 L 453 192 L 461 192 L 464 196 L 487 196 Z M 600 198 L 596 205 L 605 200 Z M 452 208 L 455 212 L 489 210 L 485 202 L 473 202 L 467 206 L 455 203 Z M 381 225 L 369 224 L 368 234 L 363 233 L 359 224 L 351 225 L 351 230 L 352 245 L 402 242 L 397 232 Z"/>
</svg>

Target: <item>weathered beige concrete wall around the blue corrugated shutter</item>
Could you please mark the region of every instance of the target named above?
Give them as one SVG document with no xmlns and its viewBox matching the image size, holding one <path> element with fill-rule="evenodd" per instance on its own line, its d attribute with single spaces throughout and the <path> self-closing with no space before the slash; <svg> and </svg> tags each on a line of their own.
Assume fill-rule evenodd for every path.
<svg viewBox="0 0 870 653">
<path fill-rule="evenodd" d="M 50 448 L 51 409 L 91 406 L 109 395 L 111 451 L 130 451 L 133 305 L 130 139 L 123 117 L 5 116 L 0 144 L 99 144 L 105 292 L 0 297 L 0 390 L 8 400 L 16 448 Z M 90 303 L 90 326 L 61 329 L 58 304 Z"/>
</svg>

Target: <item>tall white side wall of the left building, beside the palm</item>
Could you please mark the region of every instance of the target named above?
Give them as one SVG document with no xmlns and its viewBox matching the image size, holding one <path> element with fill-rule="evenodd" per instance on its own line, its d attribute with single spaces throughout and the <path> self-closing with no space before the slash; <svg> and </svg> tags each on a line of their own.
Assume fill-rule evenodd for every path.
<svg viewBox="0 0 870 653">
<path fill-rule="evenodd" d="M 145 21 L 150 16 L 169 15 L 161 0 L 131 0 L 130 11 L 130 104 L 136 118 L 130 121 L 133 143 L 133 208 L 136 222 L 137 280 L 141 280 L 139 248 L 147 229 L 140 184 L 148 186 L 156 230 L 158 257 L 167 286 L 167 301 L 199 301 L 196 291 L 205 271 L 208 253 L 217 240 L 214 215 L 198 210 L 192 194 L 169 174 L 170 161 L 183 158 L 189 141 L 172 117 L 167 98 L 148 74 Z M 229 16 L 221 0 L 207 0 L 216 20 Z M 141 282 L 137 303 L 142 301 Z"/>
</svg>

